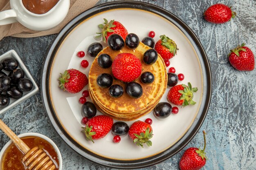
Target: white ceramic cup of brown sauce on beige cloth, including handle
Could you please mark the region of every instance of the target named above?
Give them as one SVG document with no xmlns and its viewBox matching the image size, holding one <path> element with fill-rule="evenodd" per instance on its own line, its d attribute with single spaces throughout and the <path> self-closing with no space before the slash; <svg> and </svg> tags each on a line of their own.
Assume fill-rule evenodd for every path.
<svg viewBox="0 0 256 170">
<path fill-rule="evenodd" d="M 0 12 L 0 25 L 20 22 L 43 31 L 57 26 L 67 15 L 70 0 L 10 0 L 11 9 Z"/>
</svg>

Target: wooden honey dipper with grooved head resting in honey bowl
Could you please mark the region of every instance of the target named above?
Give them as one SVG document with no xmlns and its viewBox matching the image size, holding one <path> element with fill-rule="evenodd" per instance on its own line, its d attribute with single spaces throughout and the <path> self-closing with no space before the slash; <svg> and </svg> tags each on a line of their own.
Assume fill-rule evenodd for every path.
<svg viewBox="0 0 256 170">
<path fill-rule="evenodd" d="M 29 170 L 55 170 L 52 159 L 40 148 L 30 149 L 11 129 L 0 119 L 0 129 L 23 152 L 22 162 Z"/>
</svg>

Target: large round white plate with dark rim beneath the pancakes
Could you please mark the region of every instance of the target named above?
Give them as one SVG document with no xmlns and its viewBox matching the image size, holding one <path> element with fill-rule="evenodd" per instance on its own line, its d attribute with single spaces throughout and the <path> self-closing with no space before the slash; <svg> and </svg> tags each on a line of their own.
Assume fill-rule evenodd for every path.
<svg viewBox="0 0 256 170">
<path fill-rule="evenodd" d="M 132 144 L 128 135 L 121 137 L 121 142 L 112 142 L 111 132 L 103 139 L 91 143 L 81 133 L 81 104 L 78 100 L 82 91 L 70 94 L 58 88 L 59 73 L 68 68 L 75 68 L 88 76 L 93 57 L 76 56 L 78 51 L 85 51 L 93 42 L 107 44 L 94 38 L 99 32 L 98 24 L 115 19 L 126 27 L 129 33 L 136 33 L 142 40 L 149 31 L 156 32 L 155 42 L 159 35 L 165 34 L 173 39 L 179 51 L 171 59 L 176 73 L 183 73 L 185 79 L 179 84 L 191 82 L 198 87 L 194 95 L 194 106 L 180 108 L 177 115 L 158 120 L 153 113 L 139 118 L 153 119 L 153 138 L 151 147 L 139 148 Z M 65 60 L 63 58 L 65 57 Z M 80 62 L 88 60 L 88 68 L 82 68 Z M 168 67 L 169 68 L 169 67 Z M 168 69 L 167 68 L 167 69 Z M 48 117 L 59 135 L 76 152 L 85 158 L 104 166 L 114 168 L 141 168 L 150 166 L 171 157 L 181 150 L 200 128 L 207 113 L 211 97 L 211 73 L 206 54 L 193 32 L 175 15 L 151 4 L 134 1 L 110 2 L 94 7 L 76 17 L 56 37 L 49 49 L 42 72 L 42 95 Z M 86 86 L 83 90 L 88 89 Z M 166 95 L 161 102 L 167 102 Z M 91 101 L 90 98 L 87 98 Z M 172 105 L 174 106 L 174 105 Z M 97 111 L 97 115 L 102 114 Z M 115 120 L 116 121 L 116 120 Z M 129 126 L 134 121 L 126 122 Z"/>
</svg>

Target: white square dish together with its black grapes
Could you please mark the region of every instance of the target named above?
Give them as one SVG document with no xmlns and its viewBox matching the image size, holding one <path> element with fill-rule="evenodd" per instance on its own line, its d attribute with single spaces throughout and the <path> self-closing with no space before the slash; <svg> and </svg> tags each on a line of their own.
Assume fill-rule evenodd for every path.
<svg viewBox="0 0 256 170">
<path fill-rule="evenodd" d="M 0 56 L 0 114 L 38 90 L 36 82 L 14 50 Z"/>
</svg>

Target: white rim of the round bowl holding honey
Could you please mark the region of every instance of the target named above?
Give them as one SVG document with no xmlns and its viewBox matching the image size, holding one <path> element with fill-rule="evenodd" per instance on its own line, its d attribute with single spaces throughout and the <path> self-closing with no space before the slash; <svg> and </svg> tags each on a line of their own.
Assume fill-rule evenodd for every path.
<svg viewBox="0 0 256 170">
<path fill-rule="evenodd" d="M 49 138 L 46 137 L 45 135 L 39 134 L 39 133 L 33 133 L 33 132 L 28 132 L 28 133 L 23 133 L 18 135 L 18 137 L 29 137 L 29 136 L 35 136 L 35 137 L 40 137 L 42 139 L 45 139 L 47 142 L 49 142 L 49 144 L 51 144 L 53 146 L 53 148 L 55 149 L 57 155 L 58 155 L 58 162 L 59 162 L 59 170 L 62 170 L 62 157 L 61 157 L 61 152 L 60 150 L 58 150 L 58 147 L 56 146 L 56 144 Z M 8 141 L 7 144 L 4 145 L 4 147 L 2 148 L 1 152 L 0 152 L 0 166 L 2 166 L 2 157 L 4 155 L 4 151 L 8 148 L 8 146 L 12 144 L 12 141 Z M 0 167 L 1 168 L 1 167 Z"/>
</svg>

